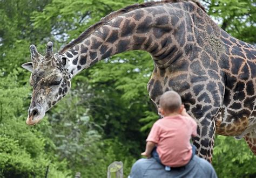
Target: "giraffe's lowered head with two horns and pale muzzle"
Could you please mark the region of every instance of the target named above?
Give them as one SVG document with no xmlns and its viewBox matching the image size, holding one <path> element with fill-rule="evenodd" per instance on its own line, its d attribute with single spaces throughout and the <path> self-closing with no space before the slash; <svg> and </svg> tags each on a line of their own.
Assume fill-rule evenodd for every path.
<svg viewBox="0 0 256 178">
<path fill-rule="evenodd" d="M 33 87 L 26 124 L 35 125 L 68 93 L 71 82 L 66 59 L 53 54 L 52 42 L 48 42 L 45 56 L 39 54 L 34 45 L 30 46 L 30 53 L 32 62 L 24 63 L 22 67 L 31 72 L 30 84 Z"/>
</svg>

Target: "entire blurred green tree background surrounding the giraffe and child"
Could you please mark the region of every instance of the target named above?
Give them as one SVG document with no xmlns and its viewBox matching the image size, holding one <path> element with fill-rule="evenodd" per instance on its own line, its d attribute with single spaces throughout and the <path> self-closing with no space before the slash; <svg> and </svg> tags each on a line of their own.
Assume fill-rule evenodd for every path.
<svg viewBox="0 0 256 178">
<path fill-rule="evenodd" d="M 43 122 L 25 125 L 31 97 L 29 46 L 55 52 L 108 13 L 143 1 L 0 0 L 0 177 L 106 177 L 123 161 L 127 176 L 158 119 L 146 90 L 149 54 L 115 55 L 84 70 Z M 253 0 L 201 1 L 208 14 L 238 39 L 256 43 Z M 218 136 L 213 166 L 219 177 L 255 177 L 256 159 L 244 140 Z"/>
</svg>

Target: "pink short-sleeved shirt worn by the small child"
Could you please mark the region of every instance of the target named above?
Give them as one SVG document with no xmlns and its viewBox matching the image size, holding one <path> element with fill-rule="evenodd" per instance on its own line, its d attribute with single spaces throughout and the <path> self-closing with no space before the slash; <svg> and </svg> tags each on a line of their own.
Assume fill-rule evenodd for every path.
<svg viewBox="0 0 256 178">
<path fill-rule="evenodd" d="M 176 115 L 157 120 L 146 141 L 157 144 L 163 165 L 184 166 L 192 156 L 191 136 L 197 135 L 197 123 L 191 117 Z"/>
</svg>

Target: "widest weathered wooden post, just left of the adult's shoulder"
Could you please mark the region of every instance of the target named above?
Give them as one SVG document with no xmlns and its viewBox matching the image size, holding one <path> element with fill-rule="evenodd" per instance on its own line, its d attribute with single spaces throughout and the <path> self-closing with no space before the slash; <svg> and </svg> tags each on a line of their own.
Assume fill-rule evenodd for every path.
<svg viewBox="0 0 256 178">
<path fill-rule="evenodd" d="M 107 178 L 123 178 L 123 162 L 114 161 L 107 168 Z"/>
</svg>

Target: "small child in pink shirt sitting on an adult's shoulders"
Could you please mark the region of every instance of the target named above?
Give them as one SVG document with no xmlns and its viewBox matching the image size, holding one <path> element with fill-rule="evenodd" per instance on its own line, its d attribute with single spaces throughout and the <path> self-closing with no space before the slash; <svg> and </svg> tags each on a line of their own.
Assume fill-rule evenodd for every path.
<svg viewBox="0 0 256 178">
<path fill-rule="evenodd" d="M 186 112 L 177 92 L 165 92 L 159 104 L 159 112 L 164 118 L 154 123 L 142 155 L 147 158 L 153 156 L 166 166 L 166 170 L 185 166 L 194 155 L 190 139 L 197 135 L 197 123 Z"/>
</svg>

